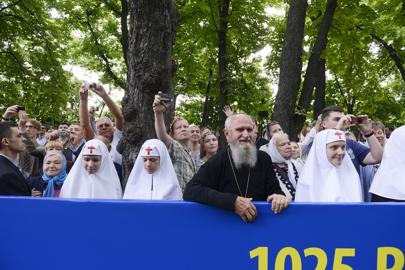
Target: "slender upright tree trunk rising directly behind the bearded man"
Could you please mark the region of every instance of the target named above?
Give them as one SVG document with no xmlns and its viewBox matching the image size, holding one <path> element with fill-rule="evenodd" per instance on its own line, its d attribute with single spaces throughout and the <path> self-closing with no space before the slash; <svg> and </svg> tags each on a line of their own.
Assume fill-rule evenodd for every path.
<svg viewBox="0 0 405 270">
<path fill-rule="evenodd" d="M 226 31 L 228 28 L 228 11 L 230 0 L 221 1 L 222 5 L 219 5 L 219 17 L 220 26 L 217 29 L 218 33 L 218 66 L 219 66 L 219 130 L 223 130 L 225 127 L 226 116 L 222 112 L 222 109 L 228 105 L 228 89 L 226 88 Z M 226 138 L 224 135 L 220 137 L 220 145 L 226 146 Z"/>
</svg>

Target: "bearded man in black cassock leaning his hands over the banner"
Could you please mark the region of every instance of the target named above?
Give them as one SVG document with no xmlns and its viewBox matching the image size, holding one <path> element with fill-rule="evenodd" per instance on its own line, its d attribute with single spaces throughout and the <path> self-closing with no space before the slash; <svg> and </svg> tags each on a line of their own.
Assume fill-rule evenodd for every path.
<svg viewBox="0 0 405 270">
<path fill-rule="evenodd" d="M 187 184 L 183 199 L 234 211 L 245 222 L 257 216 L 252 201 L 271 201 L 274 213 L 289 205 L 268 154 L 257 151 L 253 121 L 246 114 L 226 119 L 225 149 L 210 158 Z"/>
</svg>

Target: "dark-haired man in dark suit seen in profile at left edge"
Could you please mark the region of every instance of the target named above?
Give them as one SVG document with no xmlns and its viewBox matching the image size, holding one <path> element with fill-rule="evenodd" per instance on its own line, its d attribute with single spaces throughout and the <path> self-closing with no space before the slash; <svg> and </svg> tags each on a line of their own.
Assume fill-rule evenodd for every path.
<svg viewBox="0 0 405 270">
<path fill-rule="evenodd" d="M 26 139 L 15 122 L 0 122 L 0 195 L 31 196 L 15 159 L 25 151 Z"/>
</svg>

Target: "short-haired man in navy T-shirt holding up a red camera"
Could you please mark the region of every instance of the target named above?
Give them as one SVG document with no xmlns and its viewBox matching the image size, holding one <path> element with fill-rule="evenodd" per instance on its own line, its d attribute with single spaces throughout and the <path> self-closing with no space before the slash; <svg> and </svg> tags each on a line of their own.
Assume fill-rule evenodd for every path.
<svg viewBox="0 0 405 270">
<path fill-rule="evenodd" d="M 344 110 L 339 106 L 329 106 L 322 111 L 322 127 L 323 129 L 337 129 L 337 133 L 345 131 L 348 127 L 355 126 L 352 124 L 352 114 L 344 114 Z M 359 124 L 360 130 L 369 143 L 369 147 L 357 144 L 355 141 L 346 140 L 346 152 L 350 157 L 357 173 L 360 174 L 359 165 L 373 165 L 381 162 L 383 156 L 383 148 L 374 136 L 374 131 L 371 128 L 371 119 L 367 115 L 359 115 L 362 118 L 362 123 Z M 308 146 L 309 153 L 312 144 Z"/>
</svg>

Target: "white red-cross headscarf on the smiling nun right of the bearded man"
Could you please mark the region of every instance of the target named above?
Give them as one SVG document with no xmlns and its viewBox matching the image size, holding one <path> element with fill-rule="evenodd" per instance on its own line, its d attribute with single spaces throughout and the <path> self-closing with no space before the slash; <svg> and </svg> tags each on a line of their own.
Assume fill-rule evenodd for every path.
<svg viewBox="0 0 405 270">
<path fill-rule="evenodd" d="M 346 154 L 340 166 L 328 160 L 327 144 L 346 142 L 343 131 L 320 131 L 313 142 L 311 152 L 298 178 L 296 202 L 361 202 L 361 186 L 358 173 Z"/>
</svg>

